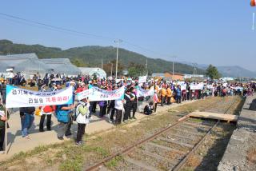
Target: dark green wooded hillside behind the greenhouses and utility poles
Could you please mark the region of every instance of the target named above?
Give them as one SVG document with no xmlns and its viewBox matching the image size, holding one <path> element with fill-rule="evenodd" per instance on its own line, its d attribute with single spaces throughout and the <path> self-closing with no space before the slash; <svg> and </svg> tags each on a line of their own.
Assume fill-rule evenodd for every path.
<svg viewBox="0 0 256 171">
<path fill-rule="evenodd" d="M 36 53 L 38 58 L 70 58 L 70 61 L 77 66 L 89 67 L 101 66 L 102 60 L 103 63 L 108 63 L 116 58 L 116 49 L 113 46 L 83 46 L 62 50 L 57 47 L 16 44 L 9 40 L 0 40 L 0 54 L 25 53 Z M 172 71 L 172 62 L 154 58 L 147 59 L 149 74 Z M 130 62 L 145 66 L 146 56 L 120 48 L 118 61 L 124 68 L 127 68 Z M 178 73 L 192 74 L 194 68 L 186 64 L 175 63 L 174 70 Z M 198 69 L 197 72 L 203 74 L 204 70 Z"/>
</svg>

